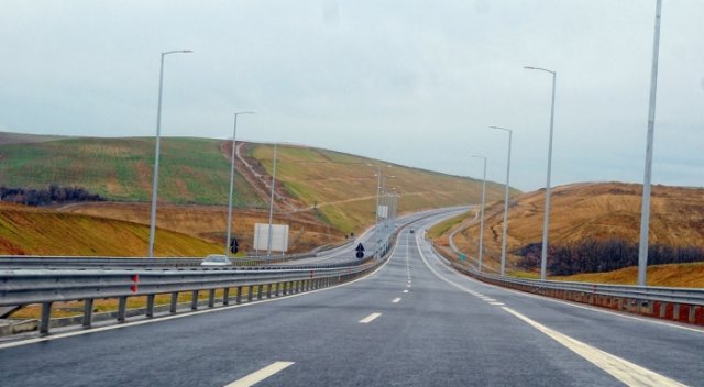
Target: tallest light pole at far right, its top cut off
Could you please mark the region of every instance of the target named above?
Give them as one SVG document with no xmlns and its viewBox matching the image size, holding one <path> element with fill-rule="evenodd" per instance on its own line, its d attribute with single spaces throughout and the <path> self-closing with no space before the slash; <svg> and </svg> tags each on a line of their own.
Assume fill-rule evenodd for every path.
<svg viewBox="0 0 704 387">
<path fill-rule="evenodd" d="M 650 103 L 648 106 L 648 145 L 646 146 L 646 173 L 642 184 L 640 211 L 640 245 L 638 246 L 638 286 L 646 286 L 648 275 L 648 229 L 650 225 L 650 176 L 652 173 L 652 137 L 656 129 L 656 96 L 658 92 L 658 56 L 660 52 L 660 14 L 662 0 L 656 3 L 656 32 L 652 42 L 652 68 L 650 75 Z"/>
</svg>

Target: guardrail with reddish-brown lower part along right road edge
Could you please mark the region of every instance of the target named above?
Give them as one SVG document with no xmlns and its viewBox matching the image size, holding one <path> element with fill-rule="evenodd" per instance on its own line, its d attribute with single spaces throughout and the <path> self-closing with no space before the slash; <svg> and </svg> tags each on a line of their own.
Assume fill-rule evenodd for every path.
<svg viewBox="0 0 704 387">
<path fill-rule="evenodd" d="M 437 256 L 460 273 L 506 288 L 536 295 L 588 303 L 653 318 L 704 325 L 704 289 L 640 287 L 501 277 L 480 273 L 466 263 L 448 259 L 435 247 Z"/>
</svg>

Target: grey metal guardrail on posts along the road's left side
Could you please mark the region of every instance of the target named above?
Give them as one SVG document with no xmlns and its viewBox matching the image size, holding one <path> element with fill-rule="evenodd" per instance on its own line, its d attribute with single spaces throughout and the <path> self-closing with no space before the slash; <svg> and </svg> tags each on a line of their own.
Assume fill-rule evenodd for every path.
<svg viewBox="0 0 704 387">
<path fill-rule="evenodd" d="M 82 325 L 91 327 L 96 299 L 118 299 L 117 321 L 124 322 L 130 297 L 146 297 L 145 317 L 152 318 L 157 295 L 170 295 L 169 312 L 176 313 L 178 296 L 184 292 L 191 294 L 190 309 L 197 310 L 199 294 L 208 291 L 208 307 L 212 308 L 217 302 L 242 302 L 243 296 L 252 301 L 341 284 L 382 263 L 370 257 L 346 265 L 288 268 L 0 270 L 0 307 L 41 305 L 38 331 L 47 334 L 52 307 L 58 301 L 82 300 Z M 222 291 L 218 299 L 217 290 Z"/>
</svg>

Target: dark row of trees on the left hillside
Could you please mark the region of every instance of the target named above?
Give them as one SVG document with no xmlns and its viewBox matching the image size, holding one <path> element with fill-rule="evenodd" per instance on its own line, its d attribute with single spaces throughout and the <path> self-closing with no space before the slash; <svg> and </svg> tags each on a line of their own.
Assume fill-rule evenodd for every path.
<svg viewBox="0 0 704 387">
<path fill-rule="evenodd" d="M 48 188 L 9 188 L 0 187 L 0 200 L 25 206 L 48 206 L 77 201 L 106 201 L 97 194 L 90 194 L 82 187 L 62 187 L 51 185 Z"/>
</svg>

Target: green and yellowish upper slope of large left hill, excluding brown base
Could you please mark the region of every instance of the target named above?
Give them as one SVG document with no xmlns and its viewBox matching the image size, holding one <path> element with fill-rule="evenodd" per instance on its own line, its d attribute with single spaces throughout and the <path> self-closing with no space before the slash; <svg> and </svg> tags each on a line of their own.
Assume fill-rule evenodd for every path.
<svg viewBox="0 0 704 387">
<path fill-rule="evenodd" d="M 383 186 L 399 195 L 399 212 L 479 203 L 481 180 L 370 159 L 340 152 L 282 145 L 276 178 L 277 213 L 318 218 L 343 233 L 374 223 L 377 168 Z M 238 161 L 235 206 L 266 209 L 273 146 L 246 143 Z M 163 137 L 160 202 L 227 204 L 230 143 L 213 139 Z M 459 156 L 462 157 L 462 156 Z M 0 133 L 0 186 L 78 186 L 109 201 L 148 202 L 154 139 L 51 137 Z M 374 165 L 371 167 L 370 165 Z M 395 189 L 395 190 L 393 190 Z M 487 202 L 503 186 L 487 185 Z M 310 218 L 312 217 L 312 218 Z"/>
</svg>

